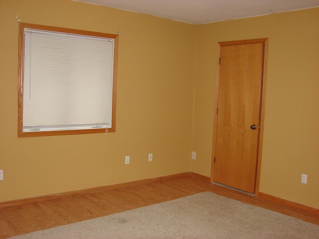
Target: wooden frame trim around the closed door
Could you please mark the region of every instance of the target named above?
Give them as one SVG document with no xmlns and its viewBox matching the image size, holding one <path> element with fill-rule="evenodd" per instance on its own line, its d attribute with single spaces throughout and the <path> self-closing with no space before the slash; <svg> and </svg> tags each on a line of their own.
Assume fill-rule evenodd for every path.
<svg viewBox="0 0 319 239">
<path fill-rule="evenodd" d="M 262 82 L 261 109 L 260 109 L 260 131 L 259 131 L 259 141 L 258 141 L 257 172 L 256 172 L 256 186 L 255 186 L 255 195 L 258 196 L 259 183 L 260 183 L 262 148 L 263 148 L 264 121 L 265 121 L 267 63 L 268 63 L 268 38 L 217 42 L 215 105 L 214 105 L 214 119 L 213 119 L 214 120 L 213 121 L 213 145 L 212 145 L 210 181 L 214 182 L 214 169 L 215 169 L 214 157 L 216 154 L 216 142 L 217 142 L 217 133 L 216 132 L 217 132 L 217 107 L 218 107 L 218 97 L 219 97 L 220 48 L 222 46 L 242 45 L 242 44 L 251 44 L 251 43 L 264 43 L 263 82 Z"/>
</svg>

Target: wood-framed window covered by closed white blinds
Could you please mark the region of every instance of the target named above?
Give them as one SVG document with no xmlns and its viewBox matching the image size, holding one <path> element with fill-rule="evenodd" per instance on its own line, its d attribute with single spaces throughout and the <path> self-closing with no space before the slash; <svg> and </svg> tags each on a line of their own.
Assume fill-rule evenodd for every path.
<svg viewBox="0 0 319 239">
<path fill-rule="evenodd" d="M 18 137 L 115 131 L 118 35 L 20 23 Z"/>
</svg>

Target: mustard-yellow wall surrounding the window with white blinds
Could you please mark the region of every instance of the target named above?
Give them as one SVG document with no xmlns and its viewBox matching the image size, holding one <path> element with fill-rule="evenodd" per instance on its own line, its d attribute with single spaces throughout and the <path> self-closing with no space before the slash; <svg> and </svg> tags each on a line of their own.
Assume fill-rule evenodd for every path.
<svg viewBox="0 0 319 239">
<path fill-rule="evenodd" d="M 122 30 L 115 133 L 17 138 L 16 14 L 21 22 Z M 0 202 L 191 170 L 196 26 L 71 0 L 0 0 L 0 32 Z"/>
</svg>

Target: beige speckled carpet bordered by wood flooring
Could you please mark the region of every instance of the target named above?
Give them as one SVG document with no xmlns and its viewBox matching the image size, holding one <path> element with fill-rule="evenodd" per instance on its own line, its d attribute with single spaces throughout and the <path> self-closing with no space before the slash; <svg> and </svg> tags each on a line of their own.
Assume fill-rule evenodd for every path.
<svg viewBox="0 0 319 239">
<path fill-rule="evenodd" d="M 11 239 L 319 239 L 319 226 L 204 192 Z"/>
</svg>

